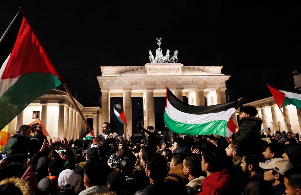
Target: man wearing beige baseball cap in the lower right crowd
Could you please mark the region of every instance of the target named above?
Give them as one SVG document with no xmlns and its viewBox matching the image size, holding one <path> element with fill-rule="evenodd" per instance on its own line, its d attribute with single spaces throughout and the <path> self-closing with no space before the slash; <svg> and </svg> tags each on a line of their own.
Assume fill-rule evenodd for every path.
<svg viewBox="0 0 301 195">
<path fill-rule="evenodd" d="M 264 170 L 263 179 L 272 182 L 271 194 L 285 194 L 284 173 L 292 169 L 293 165 L 283 158 L 275 158 L 268 163 L 260 162 L 259 166 Z"/>
</svg>

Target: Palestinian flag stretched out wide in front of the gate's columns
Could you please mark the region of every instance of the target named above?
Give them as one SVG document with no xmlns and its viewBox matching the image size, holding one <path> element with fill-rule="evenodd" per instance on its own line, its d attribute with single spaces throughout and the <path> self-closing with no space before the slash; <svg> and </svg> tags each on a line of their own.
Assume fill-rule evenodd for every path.
<svg viewBox="0 0 301 195">
<path fill-rule="evenodd" d="M 164 122 L 168 129 L 183 135 L 218 134 L 226 137 L 228 121 L 242 101 L 212 106 L 183 103 L 166 88 Z"/>
</svg>

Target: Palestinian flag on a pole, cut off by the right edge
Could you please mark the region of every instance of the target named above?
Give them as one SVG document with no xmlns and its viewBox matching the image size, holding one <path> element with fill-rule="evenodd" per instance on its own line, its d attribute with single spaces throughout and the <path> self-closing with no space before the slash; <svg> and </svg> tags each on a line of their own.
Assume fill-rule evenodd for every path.
<svg viewBox="0 0 301 195">
<path fill-rule="evenodd" d="M 279 108 L 293 104 L 301 109 L 301 94 L 275 89 L 267 84 Z"/>
</svg>

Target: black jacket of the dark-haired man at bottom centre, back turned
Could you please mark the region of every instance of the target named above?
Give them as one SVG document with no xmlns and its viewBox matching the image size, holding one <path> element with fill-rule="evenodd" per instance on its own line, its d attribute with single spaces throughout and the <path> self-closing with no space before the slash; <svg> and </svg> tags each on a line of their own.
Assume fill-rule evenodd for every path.
<svg viewBox="0 0 301 195">
<path fill-rule="evenodd" d="M 141 188 L 135 195 L 166 195 L 166 194 L 188 194 L 185 187 L 180 186 L 177 183 L 157 181 L 150 185 Z"/>
</svg>

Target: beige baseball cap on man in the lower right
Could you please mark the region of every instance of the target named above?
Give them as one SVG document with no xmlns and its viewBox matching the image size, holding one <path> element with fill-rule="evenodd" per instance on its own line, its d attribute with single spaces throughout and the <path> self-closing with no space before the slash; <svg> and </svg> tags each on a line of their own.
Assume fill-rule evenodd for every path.
<svg viewBox="0 0 301 195">
<path fill-rule="evenodd" d="M 260 162 L 259 166 L 262 169 L 274 169 L 281 175 L 284 175 L 285 171 L 293 168 L 293 165 L 289 161 L 283 158 L 274 158 L 272 161 L 268 163 Z"/>
</svg>

